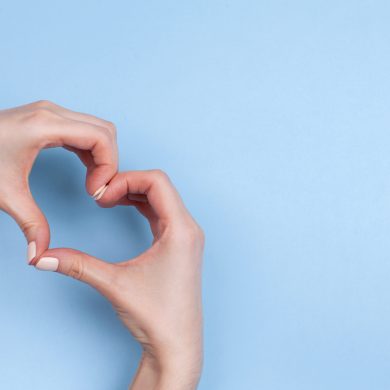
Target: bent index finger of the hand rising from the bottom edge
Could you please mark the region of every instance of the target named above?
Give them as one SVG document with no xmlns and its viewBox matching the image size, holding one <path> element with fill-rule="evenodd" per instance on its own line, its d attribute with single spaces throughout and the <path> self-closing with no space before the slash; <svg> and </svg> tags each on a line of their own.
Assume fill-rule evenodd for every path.
<svg viewBox="0 0 390 390">
<path fill-rule="evenodd" d="M 103 207 L 112 207 L 118 202 L 123 204 L 124 197 L 127 197 L 129 204 L 133 204 L 135 198 L 139 203 L 145 203 L 147 200 L 147 204 L 159 219 L 177 220 L 187 215 L 179 193 L 169 177 L 160 170 L 117 174 L 111 180 L 99 204 Z"/>
</svg>

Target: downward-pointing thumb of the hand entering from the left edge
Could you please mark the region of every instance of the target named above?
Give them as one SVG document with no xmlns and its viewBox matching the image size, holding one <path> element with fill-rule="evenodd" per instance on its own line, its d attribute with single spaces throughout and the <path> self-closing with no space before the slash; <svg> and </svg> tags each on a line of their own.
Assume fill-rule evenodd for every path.
<svg viewBox="0 0 390 390">
<path fill-rule="evenodd" d="M 27 263 L 30 263 L 49 247 L 50 228 L 47 220 L 28 188 L 12 194 L 12 200 L 5 200 L 4 211 L 15 219 L 26 237 Z"/>
</svg>

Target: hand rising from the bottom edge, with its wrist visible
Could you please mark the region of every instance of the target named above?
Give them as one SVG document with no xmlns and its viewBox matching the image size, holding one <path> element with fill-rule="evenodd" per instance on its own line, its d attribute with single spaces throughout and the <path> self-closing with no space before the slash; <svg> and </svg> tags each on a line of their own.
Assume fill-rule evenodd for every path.
<svg viewBox="0 0 390 390">
<path fill-rule="evenodd" d="M 137 207 L 149 221 L 151 248 L 116 264 L 51 249 L 34 264 L 86 282 L 111 301 L 143 346 L 133 390 L 195 389 L 202 366 L 201 228 L 158 170 L 119 173 L 99 204 Z"/>
</svg>

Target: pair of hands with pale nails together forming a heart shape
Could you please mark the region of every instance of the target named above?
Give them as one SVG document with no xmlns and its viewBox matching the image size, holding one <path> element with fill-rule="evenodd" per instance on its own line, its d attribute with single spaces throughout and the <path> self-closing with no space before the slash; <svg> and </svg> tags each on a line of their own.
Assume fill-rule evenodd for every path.
<svg viewBox="0 0 390 390">
<path fill-rule="evenodd" d="M 152 246 L 107 263 L 71 249 L 48 249 L 49 226 L 28 184 L 41 149 L 64 147 L 87 168 L 88 193 L 101 207 L 135 206 Z M 115 126 L 40 101 L 0 111 L 0 209 L 28 242 L 28 263 L 88 283 L 113 305 L 143 346 L 133 390 L 195 389 L 202 367 L 201 268 L 204 234 L 160 170 L 117 173 Z"/>
</svg>

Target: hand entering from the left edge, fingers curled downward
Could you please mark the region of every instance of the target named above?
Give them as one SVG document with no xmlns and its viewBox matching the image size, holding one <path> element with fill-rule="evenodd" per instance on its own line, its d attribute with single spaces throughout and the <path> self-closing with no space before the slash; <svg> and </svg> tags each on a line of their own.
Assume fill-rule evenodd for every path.
<svg viewBox="0 0 390 390">
<path fill-rule="evenodd" d="M 101 196 L 118 167 L 112 123 L 48 101 L 0 111 L 0 209 L 23 230 L 29 262 L 48 248 L 50 230 L 28 177 L 39 151 L 57 146 L 80 157 L 87 167 L 88 192 Z"/>
</svg>

